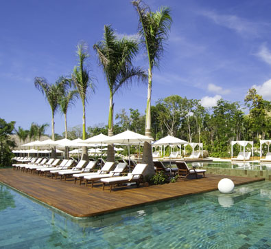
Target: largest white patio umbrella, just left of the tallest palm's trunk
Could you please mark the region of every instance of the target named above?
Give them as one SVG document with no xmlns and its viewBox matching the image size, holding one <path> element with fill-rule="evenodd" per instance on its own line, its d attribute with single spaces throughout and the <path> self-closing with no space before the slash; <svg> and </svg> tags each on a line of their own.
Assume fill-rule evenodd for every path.
<svg viewBox="0 0 271 249">
<path fill-rule="evenodd" d="M 143 136 L 139 133 L 133 131 L 124 131 L 115 136 L 109 137 L 108 140 L 104 142 L 108 143 L 119 143 L 119 144 L 128 144 L 128 158 L 129 158 L 129 171 L 131 171 L 131 164 L 130 164 L 130 145 L 133 143 L 138 142 L 150 142 L 153 139 L 147 136 Z"/>
</svg>

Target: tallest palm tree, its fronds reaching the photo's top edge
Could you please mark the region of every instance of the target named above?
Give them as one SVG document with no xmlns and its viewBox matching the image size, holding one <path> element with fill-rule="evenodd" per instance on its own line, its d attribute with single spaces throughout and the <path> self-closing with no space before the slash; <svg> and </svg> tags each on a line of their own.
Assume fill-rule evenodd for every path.
<svg viewBox="0 0 271 249">
<path fill-rule="evenodd" d="M 151 136 L 151 96 L 152 96 L 152 69 L 158 66 L 163 56 L 163 45 L 168 38 L 172 17 L 167 7 L 161 7 L 158 11 L 152 12 L 141 0 L 132 1 L 134 8 L 139 15 L 139 36 L 148 54 L 148 98 L 145 118 L 145 136 Z M 152 162 L 152 146 L 149 142 L 144 143 L 143 162 L 148 163 L 146 174 L 154 174 Z"/>
</svg>

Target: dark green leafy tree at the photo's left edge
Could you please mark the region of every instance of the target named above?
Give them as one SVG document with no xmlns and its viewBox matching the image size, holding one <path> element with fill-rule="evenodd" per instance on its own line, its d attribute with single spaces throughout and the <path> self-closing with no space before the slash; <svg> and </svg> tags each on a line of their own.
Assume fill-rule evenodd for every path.
<svg viewBox="0 0 271 249">
<path fill-rule="evenodd" d="M 15 142 L 10 138 L 14 131 L 15 122 L 5 122 L 0 118 L 0 166 L 11 166 L 13 158 L 12 148 Z"/>
</svg>

